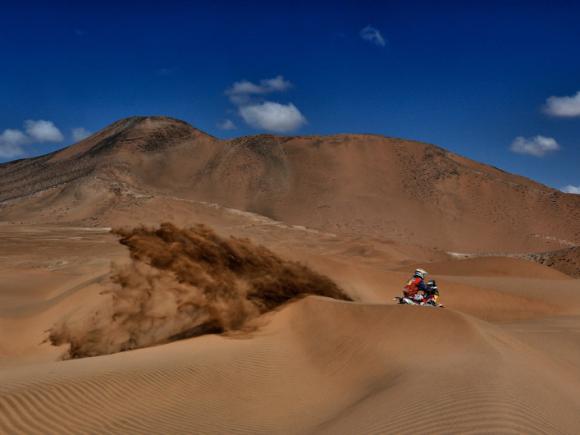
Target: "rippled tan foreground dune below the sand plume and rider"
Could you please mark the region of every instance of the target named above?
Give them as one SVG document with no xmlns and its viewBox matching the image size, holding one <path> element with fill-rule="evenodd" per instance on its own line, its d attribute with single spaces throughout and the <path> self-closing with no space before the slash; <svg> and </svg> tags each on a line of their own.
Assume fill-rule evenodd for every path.
<svg viewBox="0 0 580 435">
<path fill-rule="evenodd" d="M 464 314 L 308 297 L 250 340 L 0 372 L 0 431 L 574 433 L 579 382 Z"/>
</svg>

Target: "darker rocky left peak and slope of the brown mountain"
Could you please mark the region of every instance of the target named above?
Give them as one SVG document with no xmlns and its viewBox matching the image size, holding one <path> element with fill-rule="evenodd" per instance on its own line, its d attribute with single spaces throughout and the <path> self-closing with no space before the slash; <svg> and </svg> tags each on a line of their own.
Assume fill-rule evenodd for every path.
<svg viewBox="0 0 580 435">
<path fill-rule="evenodd" d="M 0 165 L 0 201 L 14 200 L 86 180 L 122 179 L 143 159 L 180 144 L 212 138 L 187 123 L 164 117 L 132 117 L 62 150 Z"/>
</svg>

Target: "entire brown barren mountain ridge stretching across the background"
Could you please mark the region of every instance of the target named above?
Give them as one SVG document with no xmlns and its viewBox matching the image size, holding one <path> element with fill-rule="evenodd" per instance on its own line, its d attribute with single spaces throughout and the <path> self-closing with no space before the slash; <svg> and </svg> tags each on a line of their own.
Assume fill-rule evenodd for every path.
<svg viewBox="0 0 580 435">
<path fill-rule="evenodd" d="M 60 151 L 0 165 L 5 221 L 152 223 L 175 217 L 168 210 L 179 201 L 461 252 L 580 244 L 579 195 L 378 135 L 220 140 L 183 121 L 132 117 Z"/>
</svg>

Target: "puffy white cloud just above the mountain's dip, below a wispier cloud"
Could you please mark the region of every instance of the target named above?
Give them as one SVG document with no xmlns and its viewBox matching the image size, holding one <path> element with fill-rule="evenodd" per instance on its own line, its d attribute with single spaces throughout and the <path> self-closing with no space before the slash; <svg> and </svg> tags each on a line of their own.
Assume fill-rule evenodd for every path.
<svg viewBox="0 0 580 435">
<path fill-rule="evenodd" d="M 306 118 L 292 103 L 265 101 L 250 104 L 240 107 L 239 114 L 252 127 L 276 133 L 296 130 L 306 124 Z"/>
</svg>

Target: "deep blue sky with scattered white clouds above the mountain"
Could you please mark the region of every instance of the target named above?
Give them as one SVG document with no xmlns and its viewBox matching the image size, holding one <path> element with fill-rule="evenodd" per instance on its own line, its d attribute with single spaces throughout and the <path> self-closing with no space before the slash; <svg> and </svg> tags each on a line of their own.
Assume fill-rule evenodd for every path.
<svg viewBox="0 0 580 435">
<path fill-rule="evenodd" d="M 416 139 L 580 186 L 578 2 L 83 3 L 3 5 L 0 161 L 160 114 Z"/>
</svg>

